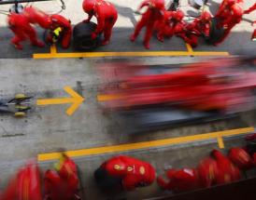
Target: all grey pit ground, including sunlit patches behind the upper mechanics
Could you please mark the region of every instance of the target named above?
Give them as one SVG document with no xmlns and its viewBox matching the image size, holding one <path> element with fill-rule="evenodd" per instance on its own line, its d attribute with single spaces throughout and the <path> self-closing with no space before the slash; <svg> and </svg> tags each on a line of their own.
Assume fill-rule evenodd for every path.
<svg viewBox="0 0 256 200">
<path fill-rule="evenodd" d="M 129 35 L 134 30 L 135 20 L 139 16 L 132 14 L 140 1 L 112 0 L 119 10 L 120 18 L 114 29 L 113 38 L 107 47 L 99 47 L 97 51 L 143 51 L 142 35 L 135 43 L 129 41 Z M 210 10 L 216 11 L 216 2 L 211 3 Z M 55 2 L 56 3 L 56 2 Z M 55 4 L 54 3 L 54 4 Z M 73 24 L 84 19 L 80 9 L 81 0 L 66 0 L 67 9 L 62 13 L 72 19 Z M 56 11 L 58 8 L 49 7 L 44 3 L 35 4 L 47 10 Z M 247 1 L 245 7 L 249 7 Z M 79 8 L 78 8 L 79 7 Z M 187 1 L 182 1 L 182 9 L 192 10 L 187 7 Z M 77 11 L 78 10 L 78 11 Z M 194 11 L 194 10 L 192 10 Z M 256 19 L 255 14 L 250 14 L 245 19 Z M 99 106 L 96 96 L 100 78 L 97 76 L 95 66 L 98 63 L 112 61 L 111 59 L 70 59 L 70 60 L 32 60 L 33 53 L 49 52 L 49 47 L 37 48 L 25 44 L 24 50 L 19 51 L 9 45 L 12 33 L 7 29 L 5 19 L 0 18 L 0 98 L 12 98 L 17 93 L 25 93 L 36 99 L 66 97 L 65 86 L 73 87 L 80 95 L 86 98 L 78 111 L 72 116 L 65 114 L 68 105 L 35 106 L 25 118 L 17 119 L 9 114 L 0 115 L 0 188 L 4 188 L 7 180 L 18 167 L 30 158 L 36 158 L 38 153 L 51 153 L 66 150 L 87 149 L 121 143 L 160 140 L 194 134 L 203 134 L 239 127 L 255 127 L 256 112 L 248 112 L 231 119 L 215 122 L 174 127 L 167 130 L 127 135 L 120 129 L 119 119 L 105 113 Z M 248 21 L 239 24 L 230 37 L 219 47 L 210 47 L 201 42 L 196 50 L 202 51 L 228 51 L 231 54 L 255 55 L 256 44 L 249 40 L 253 28 Z M 43 31 L 38 29 L 40 37 Z M 178 51 L 186 50 L 184 42 L 179 38 L 166 40 L 164 44 L 155 38 L 151 41 L 151 50 Z M 72 52 L 71 49 L 59 52 Z M 119 59 L 119 58 L 117 58 Z M 146 64 L 186 63 L 203 58 L 172 57 L 172 58 L 138 58 Z M 206 60 L 208 58 L 205 58 Z M 240 137 L 225 140 L 227 152 L 229 147 L 244 145 Z M 158 174 L 164 173 L 166 167 L 195 167 L 199 160 L 206 156 L 213 148 L 218 148 L 216 140 L 175 145 L 156 148 L 147 151 L 128 152 L 129 154 L 145 161 L 149 161 Z M 113 154 L 102 154 L 76 159 L 81 169 L 82 185 L 86 199 L 142 199 L 164 195 L 156 183 L 152 186 L 138 189 L 132 193 L 101 193 L 92 179 L 93 170 Z M 166 159 L 167 158 L 167 159 Z M 40 163 L 45 170 L 52 166 L 52 162 Z M 251 175 L 254 175 L 251 172 Z"/>
</svg>

